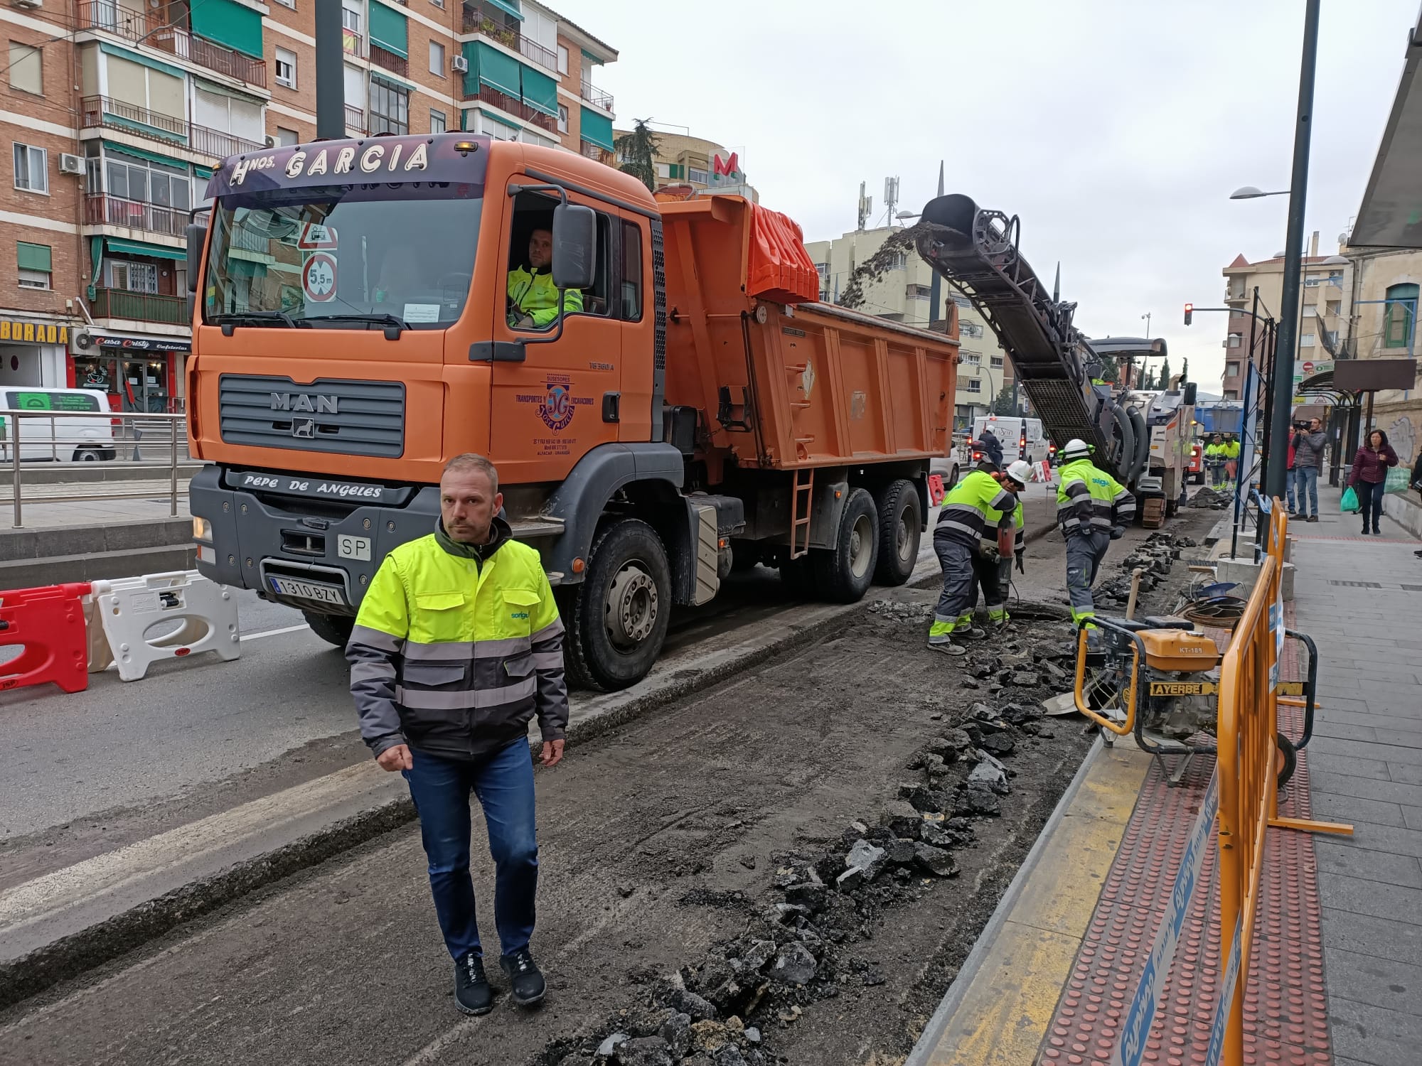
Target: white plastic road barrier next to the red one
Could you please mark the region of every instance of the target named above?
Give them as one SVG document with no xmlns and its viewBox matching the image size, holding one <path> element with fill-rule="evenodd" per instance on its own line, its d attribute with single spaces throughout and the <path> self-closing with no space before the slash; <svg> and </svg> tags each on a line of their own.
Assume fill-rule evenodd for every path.
<svg viewBox="0 0 1422 1066">
<path fill-rule="evenodd" d="M 138 681 L 161 659 L 215 651 L 242 655 L 237 603 L 232 590 L 196 570 L 94 581 L 94 614 L 108 654 L 90 628 L 90 671 L 118 664 L 118 677 Z M 92 618 L 92 615 L 91 615 Z"/>
</svg>

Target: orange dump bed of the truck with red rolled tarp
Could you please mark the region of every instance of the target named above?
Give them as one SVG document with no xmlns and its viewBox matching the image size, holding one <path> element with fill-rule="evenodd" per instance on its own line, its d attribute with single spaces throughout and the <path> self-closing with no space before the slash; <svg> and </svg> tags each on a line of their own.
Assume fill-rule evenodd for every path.
<svg viewBox="0 0 1422 1066">
<path fill-rule="evenodd" d="M 704 411 L 742 468 L 943 456 L 958 343 L 813 303 L 799 227 L 738 196 L 661 203 L 665 402 Z"/>
</svg>

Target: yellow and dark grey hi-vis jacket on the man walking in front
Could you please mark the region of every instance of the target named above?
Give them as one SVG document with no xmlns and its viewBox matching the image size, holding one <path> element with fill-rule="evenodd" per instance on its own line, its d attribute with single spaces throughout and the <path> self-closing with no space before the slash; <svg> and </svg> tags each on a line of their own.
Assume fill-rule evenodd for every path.
<svg viewBox="0 0 1422 1066">
<path fill-rule="evenodd" d="M 506 530 L 505 530 L 506 532 Z M 361 601 L 346 657 L 361 736 L 475 759 L 567 726 L 563 623 L 538 551 L 505 542 L 455 556 L 435 534 L 401 544 Z"/>
</svg>

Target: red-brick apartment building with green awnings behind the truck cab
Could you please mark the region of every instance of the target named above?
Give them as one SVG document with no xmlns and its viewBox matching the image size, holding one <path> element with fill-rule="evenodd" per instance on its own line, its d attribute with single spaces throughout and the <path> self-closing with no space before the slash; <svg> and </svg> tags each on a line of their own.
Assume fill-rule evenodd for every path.
<svg viewBox="0 0 1422 1066">
<path fill-rule="evenodd" d="M 468 129 L 611 163 L 617 51 L 532 0 L 341 0 L 353 136 Z M 183 227 L 229 155 L 316 136 L 314 0 L 9 0 L 0 385 L 183 409 Z"/>
</svg>

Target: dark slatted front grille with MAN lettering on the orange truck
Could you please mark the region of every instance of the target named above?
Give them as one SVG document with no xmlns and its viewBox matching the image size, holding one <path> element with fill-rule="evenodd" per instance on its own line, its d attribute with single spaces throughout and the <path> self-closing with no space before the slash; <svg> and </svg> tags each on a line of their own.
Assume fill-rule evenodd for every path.
<svg viewBox="0 0 1422 1066">
<path fill-rule="evenodd" d="M 398 381 L 223 374 L 218 384 L 226 443 L 398 459 L 405 451 L 405 387 Z"/>
</svg>

